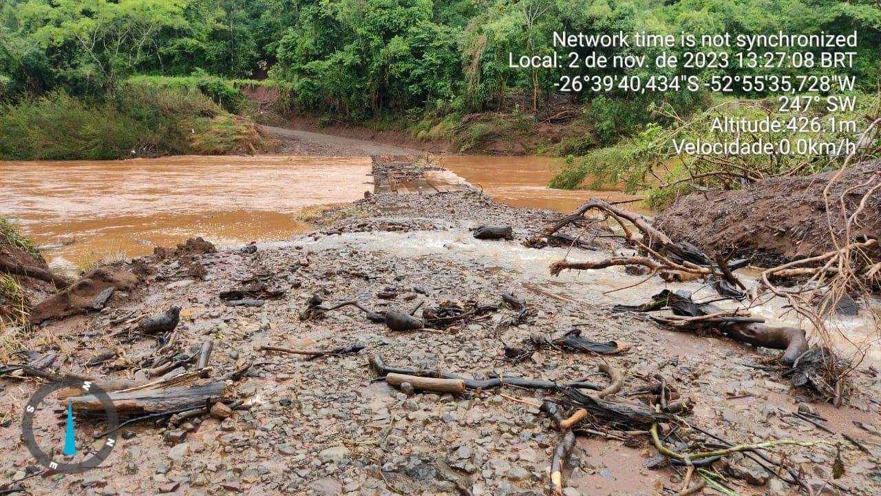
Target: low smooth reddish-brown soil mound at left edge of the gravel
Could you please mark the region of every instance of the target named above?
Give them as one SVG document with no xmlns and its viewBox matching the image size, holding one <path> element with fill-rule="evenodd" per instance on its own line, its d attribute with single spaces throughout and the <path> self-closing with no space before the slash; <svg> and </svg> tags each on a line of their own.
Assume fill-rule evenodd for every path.
<svg viewBox="0 0 881 496">
<path fill-rule="evenodd" d="M 137 275 L 122 267 L 98 267 L 85 274 L 68 289 L 48 297 L 31 309 L 30 321 L 62 319 L 77 313 L 100 310 L 113 290 L 130 291 L 140 283 Z M 107 291 L 107 292 L 105 292 Z"/>
</svg>

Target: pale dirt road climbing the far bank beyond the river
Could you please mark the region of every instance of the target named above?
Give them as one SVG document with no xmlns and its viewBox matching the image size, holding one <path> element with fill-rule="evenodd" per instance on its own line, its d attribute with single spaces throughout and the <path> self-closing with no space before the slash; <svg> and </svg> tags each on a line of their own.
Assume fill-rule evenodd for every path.
<svg viewBox="0 0 881 496">
<path fill-rule="evenodd" d="M 283 144 L 279 152 L 283 154 L 306 154 L 325 156 L 362 156 L 378 154 L 421 154 L 416 148 L 397 147 L 379 141 L 344 138 L 320 132 L 308 132 L 264 125 L 263 129 Z"/>
</svg>

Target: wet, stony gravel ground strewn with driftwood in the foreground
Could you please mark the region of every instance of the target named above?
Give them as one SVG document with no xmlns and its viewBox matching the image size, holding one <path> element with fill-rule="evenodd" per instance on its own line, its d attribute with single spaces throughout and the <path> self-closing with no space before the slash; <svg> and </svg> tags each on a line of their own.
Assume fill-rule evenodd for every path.
<svg viewBox="0 0 881 496">
<path fill-rule="evenodd" d="M 182 311 L 174 346 L 189 355 L 213 340 L 213 377 L 254 361 L 247 375 L 230 385 L 230 398 L 241 399 L 244 409 L 224 420 L 191 418 L 170 434 L 167 422 L 126 426 L 100 468 L 80 475 L 46 475 L 28 454 L 19 429 L 23 405 L 39 383 L 7 376 L 0 379 L 0 421 L 6 421 L 0 431 L 0 486 L 20 485 L 32 494 L 544 493 L 559 432 L 543 412 L 511 398 L 540 402 L 545 395 L 559 395 L 515 387 L 408 395 L 376 380 L 367 364 L 375 354 L 386 364 L 406 368 L 600 383 L 607 379 L 597 364 L 605 360 L 626 374 L 620 395 L 656 384 L 653 378 L 660 374 L 696 403 L 686 417 L 690 422 L 727 440 L 828 441 L 767 451 L 774 461 L 785 460 L 800 472 L 817 494 L 881 492 L 877 371 L 863 366 L 855 372 L 855 395 L 836 410 L 792 389 L 771 366 L 777 351 L 751 349 L 714 334 L 672 332 L 639 315 L 611 313 L 612 304 L 644 302 L 663 282 L 655 278 L 606 294 L 645 276 L 612 268 L 552 278 L 548 264 L 562 258 L 566 249 L 538 250 L 522 242 L 557 218 L 559 214 L 548 211 L 504 207 L 474 191 L 384 192 L 330 210 L 315 232 L 261 244 L 253 253 L 219 250 L 189 259 L 167 253 L 166 259 L 149 261 L 145 265 L 152 274 L 141 289 L 115 294 L 101 312 L 41 327 L 25 347 L 56 350 L 53 369 L 58 373 L 134 378 L 137 362 L 152 361 L 158 343 L 137 336 L 127 342 L 128 333 L 113 334 L 176 304 Z M 477 240 L 470 229 L 481 223 L 513 225 L 515 239 Z M 573 250 L 569 257 L 598 259 L 618 250 L 604 232 L 589 233 L 596 235 L 592 238 L 602 246 L 599 250 Z M 201 279 L 157 281 L 158 274 L 180 274 L 195 263 L 204 268 Z M 220 291 L 241 287 L 256 276 L 270 288 L 284 289 L 285 295 L 257 308 L 228 306 L 218 298 Z M 389 286 L 395 287 L 396 298 L 377 297 Z M 692 291 L 700 287 L 697 282 L 675 286 Z M 353 307 L 328 312 L 324 319 L 300 319 L 315 294 L 329 303 L 357 299 L 374 310 L 409 310 L 419 302 L 423 307 L 447 301 L 500 304 L 504 292 L 528 302 L 535 313 L 526 323 L 506 326 L 516 313 L 507 308 L 444 330 L 414 332 L 389 331 Z M 521 363 L 504 357 L 505 343 L 522 343 L 533 333 L 561 333 L 573 324 L 582 324 L 582 334 L 596 341 L 614 340 L 631 348 L 607 357 L 559 349 L 542 349 Z M 355 343 L 366 349 L 311 360 L 255 350 L 263 345 L 330 349 Z M 84 366 L 113 350 L 117 356 L 106 363 Z M 828 420 L 832 432 L 792 415 L 812 409 Z M 58 425 L 62 418 L 41 410 L 35 423 Z M 580 432 L 566 468 L 567 496 L 674 494 L 682 488 L 685 470 L 663 463 L 654 467 L 651 459 L 657 452 L 646 434 L 606 439 L 597 433 L 604 427 Z M 78 425 L 80 446 L 101 428 L 98 421 Z M 41 447 L 56 447 L 60 453 L 61 429 L 38 432 Z M 181 430 L 185 439 L 174 439 Z M 705 439 L 700 432 L 680 428 L 668 442 L 672 446 L 678 440 Z M 845 470 L 836 479 L 837 449 Z M 742 455 L 715 466 L 725 477 L 723 484 L 740 494 L 796 493 Z M 704 492 L 716 493 L 709 488 Z"/>
</svg>

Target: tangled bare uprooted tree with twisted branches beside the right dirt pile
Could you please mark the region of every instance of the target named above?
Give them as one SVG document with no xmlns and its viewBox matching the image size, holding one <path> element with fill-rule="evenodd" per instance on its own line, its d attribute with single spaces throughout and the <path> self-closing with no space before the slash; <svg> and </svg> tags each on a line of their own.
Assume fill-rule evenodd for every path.
<svg viewBox="0 0 881 496">
<path fill-rule="evenodd" d="M 655 275 L 662 276 L 666 281 L 705 279 L 722 297 L 738 300 L 749 297 L 749 304 L 745 305 L 747 307 L 780 297 L 813 328 L 811 337 L 822 349 L 816 355 L 834 357 L 831 349 L 835 331 L 826 325 L 825 317 L 847 295 L 867 295 L 881 288 L 881 247 L 877 235 L 855 234 L 860 230 L 858 227 L 861 220 L 867 215 L 877 215 L 871 206 L 877 203 L 876 197 L 881 195 L 881 169 L 870 170 L 861 184 L 844 188 L 843 192 L 833 195 L 832 192 L 837 191 L 833 190 L 833 185 L 840 179 L 851 158 L 853 157 L 848 157 L 844 167 L 828 179 L 824 190 L 828 236 L 835 249 L 789 261 L 777 267 L 764 268 L 760 272 L 758 284 L 753 288 L 748 289 L 734 272 L 738 267 L 749 264 L 749 260 L 729 259 L 736 250 L 710 256 L 687 241 L 673 241 L 663 231 L 652 226 L 648 218 L 602 199 L 589 199 L 573 214 L 566 215 L 545 229 L 543 236 L 555 236 L 559 229 L 570 224 L 583 224 L 586 221 L 585 215 L 594 212 L 601 214 L 601 217 L 591 219 L 592 222 L 611 221 L 617 224 L 621 233 L 619 236 L 631 244 L 637 254 L 592 261 L 563 259 L 552 264 L 551 273 L 557 275 L 567 269 L 641 266 L 648 269 L 648 275 L 638 284 Z M 853 198 L 855 194 L 856 198 Z M 784 287 L 783 284 L 787 282 L 795 286 Z M 781 363 L 787 366 L 796 365 L 798 358 L 808 351 L 803 329 L 767 326 L 763 319 L 753 318 L 745 310 L 725 312 L 712 305 L 696 305 L 691 301 L 690 295 L 683 297 L 670 291 L 667 291 L 666 296 L 659 295 L 653 302 L 640 306 L 647 305 L 655 305 L 655 309 L 673 310 L 673 316 L 655 318 L 671 327 L 714 327 L 741 342 L 770 349 L 785 349 Z M 637 308 L 631 307 L 629 310 Z M 877 311 L 870 308 L 869 312 L 873 313 L 873 318 L 877 321 Z M 848 336 L 841 335 L 850 341 Z M 857 343 L 854 344 L 854 357 L 848 360 L 837 357 L 827 360 L 825 380 L 819 381 L 828 385 L 825 388 L 827 390 L 821 392 L 834 398 L 836 405 L 840 404 L 845 394 L 848 373 L 862 361 L 865 353 Z"/>
</svg>

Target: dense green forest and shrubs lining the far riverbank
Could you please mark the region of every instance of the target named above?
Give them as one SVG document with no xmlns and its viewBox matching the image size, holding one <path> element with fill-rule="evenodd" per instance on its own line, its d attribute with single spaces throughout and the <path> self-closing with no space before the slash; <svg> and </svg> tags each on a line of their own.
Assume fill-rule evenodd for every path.
<svg viewBox="0 0 881 496">
<path fill-rule="evenodd" d="M 576 120 L 584 125 L 539 151 L 578 157 L 623 147 L 614 153 L 604 149 L 600 158 L 558 181 L 571 187 L 584 174 L 604 169 L 603 157 L 642 156 L 644 145 L 658 133 L 653 126 L 700 116 L 718 109 L 720 101 L 718 94 L 685 91 L 560 96 L 554 83 L 564 71 L 573 74 L 572 69 L 508 66 L 512 53 L 550 53 L 555 31 L 855 31 L 859 49 L 853 64 L 835 73 L 855 76 L 855 92 L 869 95 L 860 101 L 861 111 L 877 99 L 881 58 L 881 8 L 874 0 L 0 1 L 0 156 L 7 158 L 112 158 L 129 148 L 137 154 L 192 151 L 193 143 L 172 137 L 181 126 L 195 129 L 196 119 L 216 135 L 209 147 L 196 151 L 225 153 L 251 132 L 232 116 L 245 112 L 241 89 L 249 86 L 272 88 L 285 109 L 346 123 L 397 126 L 420 138 L 458 139 L 461 149 L 486 134 L 536 132 L 539 117 L 551 115 L 565 101 L 579 106 Z M 661 49 L 596 51 L 651 57 Z M 667 70 L 702 78 L 746 71 Z M 591 71 L 611 72 L 622 70 Z M 194 101 L 188 92 L 211 101 L 178 109 L 177 104 Z M 726 95 L 729 100 L 743 96 Z M 68 109 L 78 115 L 56 115 Z M 497 111 L 463 124 L 463 116 Z M 45 129 L 68 121 L 67 131 Z M 215 124 L 222 125 L 217 129 Z M 107 130 L 127 127 L 137 130 L 137 139 L 102 142 Z M 40 138 L 28 138 L 33 136 Z M 46 147 L 67 136 L 73 136 L 70 146 Z M 91 151 L 78 153 L 79 142 L 88 143 Z"/>
</svg>

